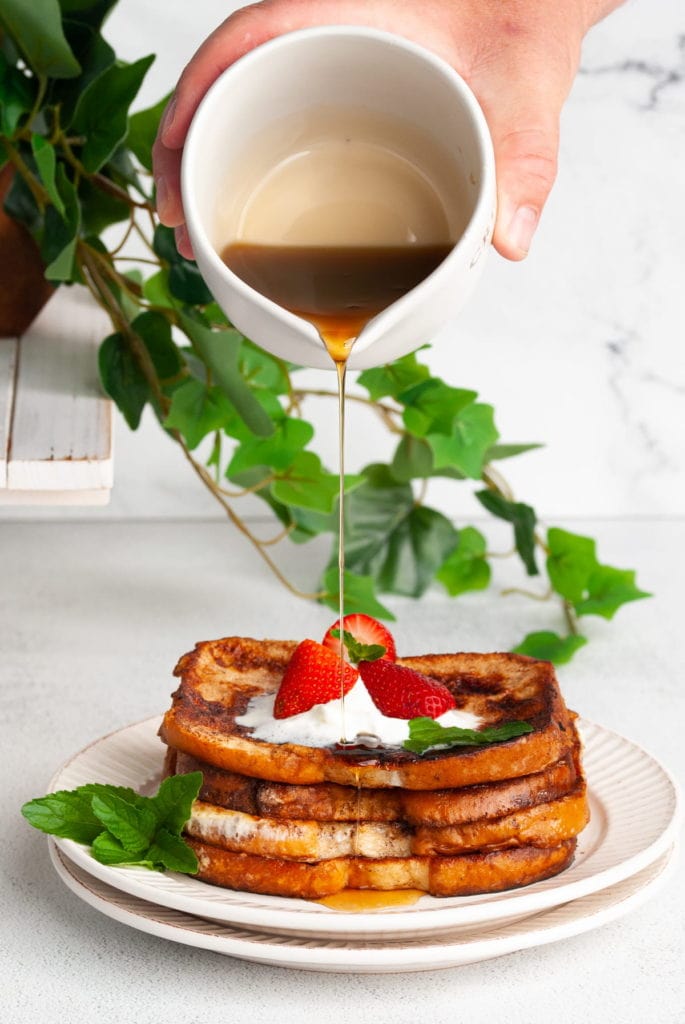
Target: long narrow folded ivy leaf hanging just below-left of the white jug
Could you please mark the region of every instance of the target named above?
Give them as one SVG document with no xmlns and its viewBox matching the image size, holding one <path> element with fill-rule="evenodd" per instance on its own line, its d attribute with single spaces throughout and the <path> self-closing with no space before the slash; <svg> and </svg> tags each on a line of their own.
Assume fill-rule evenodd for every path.
<svg viewBox="0 0 685 1024">
<path fill-rule="evenodd" d="M 171 271 L 169 287 L 171 288 Z M 180 314 L 180 321 L 196 352 L 211 371 L 214 383 L 221 388 L 250 430 L 263 437 L 271 434 L 271 418 L 255 397 L 239 369 L 243 335 L 232 328 L 212 331 L 186 313 Z"/>
</svg>

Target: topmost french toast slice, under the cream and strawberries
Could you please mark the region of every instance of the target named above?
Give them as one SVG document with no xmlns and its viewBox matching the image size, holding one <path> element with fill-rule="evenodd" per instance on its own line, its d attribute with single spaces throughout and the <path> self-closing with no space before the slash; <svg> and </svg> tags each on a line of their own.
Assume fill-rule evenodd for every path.
<svg viewBox="0 0 685 1024">
<path fill-rule="evenodd" d="M 180 684 L 160 735 L 216 768 L 274 782 L 442 790 L 517 778 L 556 764 L 572 750 L 572 716 L 552 666 L 519 654 L 426 654 L 398 658 L 445 685 L 458 709 L 486 726 L 519 720 L 532 731 L 489 746 L 417 756 L 402 748 L 340 750 L 258 739 L 237 719 L 253 697 L 273 694 L 295 641 L 227 637 L 184 654 Z M 357 684 L 359 685 L 359 684 Z"/>
</svg>

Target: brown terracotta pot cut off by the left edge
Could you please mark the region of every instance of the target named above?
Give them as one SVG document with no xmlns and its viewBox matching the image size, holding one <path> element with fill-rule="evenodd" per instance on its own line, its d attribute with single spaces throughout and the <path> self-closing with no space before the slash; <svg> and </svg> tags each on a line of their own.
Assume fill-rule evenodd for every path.
<svg viewBox="0 0 685 1024">
<path fill-rule="evenodd" d="M 13 173 L 9 165 L 0 171 L 0 337 L 5 338 L 24 334 L 54 291 L 31 234 L 2 209 Z"/>
</svg>

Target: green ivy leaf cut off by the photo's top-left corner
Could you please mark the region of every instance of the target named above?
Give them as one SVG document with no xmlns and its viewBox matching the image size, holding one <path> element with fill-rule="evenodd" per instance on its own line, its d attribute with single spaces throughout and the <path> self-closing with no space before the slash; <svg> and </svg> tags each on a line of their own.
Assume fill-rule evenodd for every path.
<svg viewBox="0 0 685 1024">
<path fill-rule="evenodd" d="M 62 32 L 57 0 L 2 0 L 0 27 L 39 78 L 76 78 L 80 74 Z"/>
</svg>

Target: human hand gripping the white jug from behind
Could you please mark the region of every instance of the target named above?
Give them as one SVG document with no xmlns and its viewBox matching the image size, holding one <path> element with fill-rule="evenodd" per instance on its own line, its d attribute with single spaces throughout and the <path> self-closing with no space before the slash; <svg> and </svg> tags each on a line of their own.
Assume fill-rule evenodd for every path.
<svg viewBox="0 0 685 1024">
<path fill-rule="evenodd" d="M 192 249 L 180 196 L 180 162 L 192 116 L 214 80 L 255 46 L 296 29 L 359 25 L 404 36 L 468 82 L 487 120 L 497 166 L 493 244 L 508 259 L 528 252 L 556 176 L 559 115 L 583 36 L 619 0 L 263 0 L 223 22 L 187 65 L 153 150 L 160 219 Z"/>
</svg>

